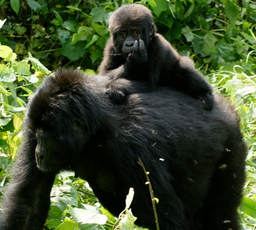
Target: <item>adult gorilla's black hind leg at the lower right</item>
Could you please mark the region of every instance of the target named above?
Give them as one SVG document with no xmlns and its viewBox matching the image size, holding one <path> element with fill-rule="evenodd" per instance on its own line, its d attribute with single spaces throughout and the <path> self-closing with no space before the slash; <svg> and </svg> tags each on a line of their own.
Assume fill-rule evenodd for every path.
<svg viewBox="0 0 256 230">
<path fill-rule="evenodd" d="M 233 140 L 239 140 L 234 137 Z M 210 192 L 202 209 L 205 230 L 239 230 L 238 206 L 245 182 L 244 143 L 230 141 L 224 150 L 210 185 Z"/>
</svg>

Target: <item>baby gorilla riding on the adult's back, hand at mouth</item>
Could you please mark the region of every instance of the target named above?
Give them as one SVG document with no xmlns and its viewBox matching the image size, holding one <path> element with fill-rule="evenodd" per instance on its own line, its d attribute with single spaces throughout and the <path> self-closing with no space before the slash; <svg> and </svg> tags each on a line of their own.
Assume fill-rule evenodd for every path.
<svg viewBox="0 0 256 230">
<path fill-rule="evenodd" d="M 109 20 L 110 40 L 104 49 L 100 75 L 113 81 L 109 98 L 121 102 L 124 97 L 146 89 L 132 88 L 122 79 L 172 86 L 202 101 L 205 109 L 213 106 L 212 87 L 194 67 L 190 58 L 180 56 L 160 34 L 148 8 L 127 4 L 118 8 Z"/>
</svg>

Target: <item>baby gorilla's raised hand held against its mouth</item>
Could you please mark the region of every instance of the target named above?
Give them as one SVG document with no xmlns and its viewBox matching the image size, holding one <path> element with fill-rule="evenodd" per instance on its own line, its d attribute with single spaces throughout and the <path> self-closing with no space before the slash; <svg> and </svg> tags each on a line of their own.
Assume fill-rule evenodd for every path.
<svg viewBox="0 0 256 230">
<path fill-rule="evenodd" d="M 133 51 L 128 55 L 127 61 L 130 64 L 143 63 L 148 60 L 148 53 L 144 44 L 144 41 L 139 39 L 139 41 L 134 42 Z"/>
</svg>

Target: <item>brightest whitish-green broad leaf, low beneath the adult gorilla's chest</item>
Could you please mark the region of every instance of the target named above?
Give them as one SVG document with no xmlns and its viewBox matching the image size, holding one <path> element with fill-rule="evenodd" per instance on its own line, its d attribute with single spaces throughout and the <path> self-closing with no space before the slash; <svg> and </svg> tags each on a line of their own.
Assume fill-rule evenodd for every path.
<svg viewBox="0 0 256 230">
<path fill-rule="evenodd" d="M 100 213 L 100 210 L 88 204 L 82 204 L 85 209 L 72 208 L 68 209 L 68 213 L 71 214 L 76 222 L 81 224 L 106 224 L 107 216 Z"/>
</svg>

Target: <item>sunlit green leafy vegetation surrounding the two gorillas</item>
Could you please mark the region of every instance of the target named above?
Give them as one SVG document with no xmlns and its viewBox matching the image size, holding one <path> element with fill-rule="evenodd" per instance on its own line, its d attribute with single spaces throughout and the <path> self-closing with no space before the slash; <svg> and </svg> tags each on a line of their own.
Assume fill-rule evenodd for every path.
<svg viewBox="0 0 256 230">
<path fill-rule="evenodd" d="M 133 0 L 0 0 L 0 194 L 21 137 L 28 98 L 44 76 L 63 66 L 94 74 L 109 37 L 108 18 Z M 234 104 L 248 145 L 242 228 L 256 229 L 256 2 L 142 0 L 158 32 Z M 79 160 L 79 159 L 78 159 Z M 132 198 L 132 194 L 129 199 Z M 45 229 L 134 229 L 128 205 L 114 218 L 86 181 L 56 176 Z M 129 200 L 128 199 L 128 200 Z M 129 201 L 128 201 L 129 203 Z M 136 229 L 141 229 L 137 228 Z"/>
</svg>

